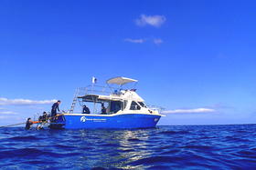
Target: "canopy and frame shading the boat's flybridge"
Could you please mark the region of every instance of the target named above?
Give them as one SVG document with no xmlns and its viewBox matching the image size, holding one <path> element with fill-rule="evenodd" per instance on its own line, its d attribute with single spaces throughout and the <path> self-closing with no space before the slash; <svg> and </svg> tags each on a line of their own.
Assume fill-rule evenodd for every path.
<svg viewBox="0 0 256 170">
<path fill-rule="evenodd" d="M 135 85 L 133 85 L 132 88 L 129 88 L 128 83 L 131 82 L 135 82 Z M 132 78 L 126 78 L 126 77 L 122 77 L 122 76 L 118 76 L 118 77 L 114 77 L 112 79 L 107 80 L 107 85 L 112 88 L 112 85 L 119 85 L 118 89 L 121 89 L 122 85 L 126 85 L 127 89 L 131 90 L 131 89 L 135 89 L 136 85 L 138 83 L 138 80 L 134 80 Z"/>
</svg>

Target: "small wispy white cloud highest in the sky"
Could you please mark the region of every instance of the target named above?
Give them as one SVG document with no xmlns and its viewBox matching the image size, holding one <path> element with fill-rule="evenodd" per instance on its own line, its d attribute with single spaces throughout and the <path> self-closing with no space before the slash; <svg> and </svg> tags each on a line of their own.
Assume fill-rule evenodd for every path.
<svg viewBox="0 0 256 170">
<path fill-rule="evenodd" d="M 163 23 L 165 23 L 165 16 L 164 15 L 154 15 L 154 16 L 147 16 L 141 15 L 141 19 L 136 20 L 136 25 L 153 25 L 155 27 L 159 27 Z"/>
</svg>

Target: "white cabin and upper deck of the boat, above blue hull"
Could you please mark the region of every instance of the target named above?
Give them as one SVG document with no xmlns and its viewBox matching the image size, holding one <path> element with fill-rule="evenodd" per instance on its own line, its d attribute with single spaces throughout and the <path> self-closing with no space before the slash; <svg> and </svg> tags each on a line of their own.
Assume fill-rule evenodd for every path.
<svg viewBox="0 0 256 170">
<path fill-rule="evenodd" d="M 161 112 L 161 107 L 155 105 L 145 105 L 142 97 L 136 94 L 135 86 L 137 80 L 125 77 L 115 77 L 107 81 L 107 85 L 89 85 L 77 89 L 74 97 L 80 102 L 93 103 L 93 112 L 91 114 L 101 114 L 97 105 L 106 107 L 106 114 L 156 114 Z M 133 83 L 132 88 L 128 85 Z M 73 102 L 74 103 L 74 102 Z M 71 106 L 72 108 L 72 106 Z M 100 111 L 100 112 L 99 112 Z"/>
</svg>

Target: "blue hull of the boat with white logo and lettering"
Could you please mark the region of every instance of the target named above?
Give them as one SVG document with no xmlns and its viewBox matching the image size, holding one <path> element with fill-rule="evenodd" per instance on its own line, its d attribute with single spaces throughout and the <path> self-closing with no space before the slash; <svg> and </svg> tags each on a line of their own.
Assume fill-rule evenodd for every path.
<svg viewBox="0 0 256 170">
<path fill-rule="evenodd" d="M 64 115 L 57 124 L 65 129 L 82 128 L 147 128 L 155 127 L 161 115 L 122 114 L 122 115 Z M 65 121 L 62 121 L 65 120 Z M 65 122 L 65 125 L 63 123 Z M 55 125 L 54 127 L 57 127 Z"/>
</svg>

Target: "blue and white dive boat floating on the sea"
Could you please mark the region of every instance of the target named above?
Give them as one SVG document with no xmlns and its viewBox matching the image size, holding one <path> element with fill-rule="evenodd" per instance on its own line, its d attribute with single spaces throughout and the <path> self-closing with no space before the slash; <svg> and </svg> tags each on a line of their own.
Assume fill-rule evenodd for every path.
<svg viewBox="0 0 256 170">
<path fill-rule="evenodd" d="M 137 82 L 120 76 L 107 80 L 105 86 L 92 83 L 77 88 L 69 112 L 60 115 L 56 122 L 49 124 L 49 127 L 51 129 L 155 127 L 160 118 L 165 116 L 161 115 L 163 108 L 145 105 L 143 98 L 135 92 Z M 129 88 L 131 84 L 133 86 Z M 81 107 L 91 104 L 91 107 L 93 106 L 91 114 L 74 113 L 74 107 L 78 102 Z M 104 113 L 99 109 L 101 105 L 105 107 Z"/>
</svg>

